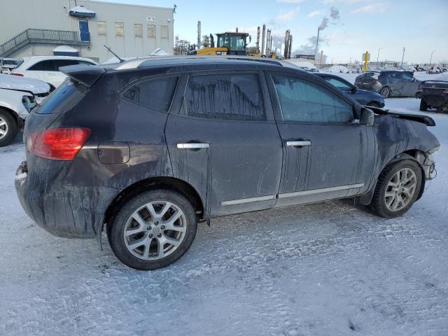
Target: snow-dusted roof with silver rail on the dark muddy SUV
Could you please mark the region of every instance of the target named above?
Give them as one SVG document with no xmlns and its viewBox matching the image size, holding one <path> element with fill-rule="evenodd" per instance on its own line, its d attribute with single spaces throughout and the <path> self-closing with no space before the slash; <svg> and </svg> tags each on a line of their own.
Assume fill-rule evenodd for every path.
<svg viewBox="0 0 448 336">
<path fill-rule="evenodd" d="M 283 66 L 282 62 L 277 59 L 266 57 L 251 56 L 163 56 L 163 57 L 144 57 L 139 59 L 131 59 L 129 61 L 114 64 L 109 69 L 141 69 L 153 66 L 179 66 L 184 64 L 235 64 L 235 65 L 271 65 Z"/>
</svg>

